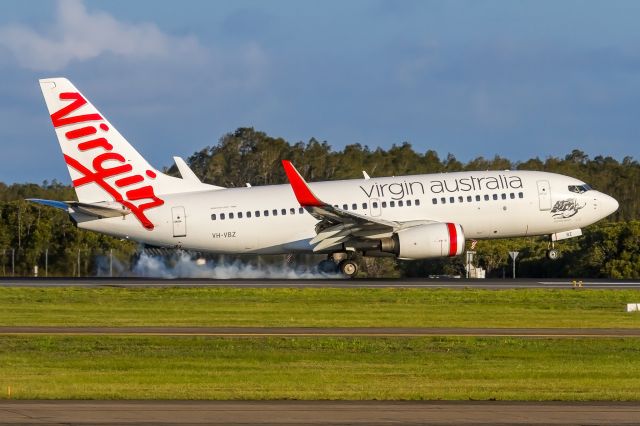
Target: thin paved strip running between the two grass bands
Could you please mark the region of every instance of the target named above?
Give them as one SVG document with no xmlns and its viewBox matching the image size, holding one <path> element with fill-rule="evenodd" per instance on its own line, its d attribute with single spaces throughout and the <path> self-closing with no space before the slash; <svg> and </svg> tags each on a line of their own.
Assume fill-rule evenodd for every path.
<svg viewBox="0 0 640 426">
<path fill-rule="evenodd" d="M 406 328 L 406 327 L 42 327 L 2 326 L 0 335 L 210 337 L 546 337 L 638 338 L 638 328 Z"/>
</svg>

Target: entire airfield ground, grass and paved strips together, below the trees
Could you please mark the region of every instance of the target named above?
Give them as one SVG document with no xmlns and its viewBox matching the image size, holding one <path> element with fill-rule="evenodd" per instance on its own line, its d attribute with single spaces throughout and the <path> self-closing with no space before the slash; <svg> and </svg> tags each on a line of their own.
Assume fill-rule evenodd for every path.
<svg viewBox="0 0 640 426">
<path fill-rule="evenodd" d="M 640 420 L 636 282 L 2 284 L 0 423 Z M 176 401 L 26 401 L 68 398 Z"/>
</svg>

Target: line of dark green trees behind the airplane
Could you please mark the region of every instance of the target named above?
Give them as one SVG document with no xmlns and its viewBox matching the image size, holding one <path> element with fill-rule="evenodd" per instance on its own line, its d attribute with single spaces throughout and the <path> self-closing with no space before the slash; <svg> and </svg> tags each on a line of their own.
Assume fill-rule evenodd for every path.
<svg viewBox="0 0 640 426">
<path fill-rule="evenodd" d="M 640 278 L 640 164 L 631 157 L 622 161 L 589 158 L 573 150 L 563 158 L 513 162 L 496 155 L 462 162 L 452 154 L 441 158 L 433 150 L 417 152 L 406 142 L 387 150 L 360 144 L 334 150 L 328 142 L 314 138 L 289 143 L 253 128 L 239 128 L 195 152 L 187 162 L 202 181 L 235 187 L 286 183 L 282 159 L 292 160 L 309 181 L 359 178 L 363 170 L 372 177 L 467 170 L 541 170 L 573 176 L 616 198 L 620 209 L 606 221 L 586 228 L 582 237 L 561 242 L 563 256 L 557 261 L 544 257 L 546 239 L 531 237 L 480 241 L 477 262 L 488 276 L 509 276 L 508 251 L 517 250 L 521 252 L 520 276 Z M 165 171 L 178 175 L 175 166 Z M 115 256 L 118 268 L 126 272 L 139 248 L 135 243 L 79 230 L 63 212 L 27 203 L 25 198 L 73 200 L 75 193 L 56 181 L 0 183 L 0 273 L 31 275 L 36 265 L 42 271 L 46 261 L 50 276 L 95 275 L 104 272 L 106 256 L 110 267 Z M 373 276 L 461 274 L 463 261 L 366 259 L 363 269 Z"/>
</svg>

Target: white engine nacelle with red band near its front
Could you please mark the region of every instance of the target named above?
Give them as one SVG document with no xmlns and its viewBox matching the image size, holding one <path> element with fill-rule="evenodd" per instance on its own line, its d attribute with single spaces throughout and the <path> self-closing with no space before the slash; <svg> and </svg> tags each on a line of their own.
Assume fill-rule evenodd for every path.
<svg viewBox="0 0 640 426">
<path fill-rule="evenodd" d="M 393 241 L 383 241 L 382 251 L 400 259 L 457 256 L 464 251 L 464 232 L 456 223 L 429 223 L 399 231 Z"/>
</svg>

